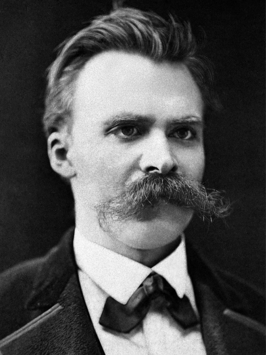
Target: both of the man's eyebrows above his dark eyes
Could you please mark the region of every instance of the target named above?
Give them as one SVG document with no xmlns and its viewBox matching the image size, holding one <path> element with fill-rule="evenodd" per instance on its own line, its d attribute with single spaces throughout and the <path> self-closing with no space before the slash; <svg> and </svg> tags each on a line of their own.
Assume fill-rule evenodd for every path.
<svg viewBox="0 0 266 355">
<path fill-rule="evenodd" d="M 109 117 L 105 122 L 105 127 L 114 127 L 121 123 L 139 123 L 139 124 L 153 124 L 156 119 L 152 116 L 143 116 L 143 115 L 134 115 L 131 113 L 123 113 Z M 203 125 L 203 118 L 200 116 L 188 115 L 188 116 L 181 116 L 180 118 L 177 117 L 170 117 L 168 119 L 168 125 L 180 125 L 180 124 L 197 124 Z"/>
</svg>

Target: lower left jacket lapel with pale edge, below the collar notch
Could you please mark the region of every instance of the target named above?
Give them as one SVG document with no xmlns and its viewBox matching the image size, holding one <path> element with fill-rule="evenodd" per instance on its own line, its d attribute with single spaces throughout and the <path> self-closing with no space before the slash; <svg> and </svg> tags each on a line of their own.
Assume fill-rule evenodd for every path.
<svg viewBox="0 0 266 355">
<path fill-rule="evenodd" d="M 72 275 L 54 306 L 7 337 L 0 349 L 3 355 L 104 354 L 76 275 Z"/>
</svg>

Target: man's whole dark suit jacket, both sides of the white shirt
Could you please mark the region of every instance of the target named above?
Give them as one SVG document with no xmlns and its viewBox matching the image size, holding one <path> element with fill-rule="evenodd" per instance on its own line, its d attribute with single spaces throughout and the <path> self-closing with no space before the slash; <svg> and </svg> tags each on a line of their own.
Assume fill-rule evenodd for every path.
<svg viewBox="0 0 266 355">
<path fill-rule="evenodd" d="M 85 305 L 73 229 L 45 257 L 0 276 L 1 354 L 104 354 Z M 265 354 L 264 298 L 217 271 L 187 245 L 188 269 L 208 355 Z"/>
</svg>

